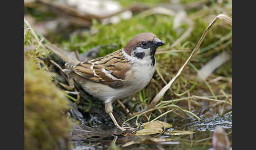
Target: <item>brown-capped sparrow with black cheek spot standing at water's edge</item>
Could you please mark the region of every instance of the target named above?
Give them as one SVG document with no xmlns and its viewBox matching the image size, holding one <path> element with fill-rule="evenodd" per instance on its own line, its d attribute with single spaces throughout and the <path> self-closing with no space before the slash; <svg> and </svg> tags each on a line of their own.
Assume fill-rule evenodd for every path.
<svg viewBox="0 0 256 150">
<path fill-rule="evenodd" d="M 140 33 L 120 50 L 83 62 L 52 44 L 46 47 L 64 60 L 66 68 L 62 71 L 87 93 L 101 100 L 114 125 L 124 131 L 115 120 L 112 103 L 145 88 L 155 71 L 156 49 L 163 45 L 156 35 Z"/>
</svg>

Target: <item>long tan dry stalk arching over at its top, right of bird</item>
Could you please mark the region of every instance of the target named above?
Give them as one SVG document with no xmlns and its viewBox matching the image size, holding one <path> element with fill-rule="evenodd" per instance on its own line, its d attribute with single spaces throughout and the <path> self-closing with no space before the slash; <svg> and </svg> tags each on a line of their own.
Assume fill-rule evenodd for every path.
<svg viewBox="0 0 256 150">
<path fill-rule="evenodd" d="M 151 110 L 152 108 L 155 107 L 155 105 L 160 101 L 160 99 L 163 97 L 164 93 L 171 87 L 172 83 L 180 76 L 181 72 L 183 71 L 183 69 L 188 65 L 188 63 L 190 62 L 191 58 L 194 56 L 195 52 L 198 51 L 200 45 L 203 42 L 203 39 L 205 38 L 206 34 L 208 33 L 209 29 L 214 25 L 214 23 L 216 22 L 217 19 L 221 19 L 224 20 L 225 23 L 228 23 L 230 25 L 232 25 L 232 18 L 220 14 L 218 16 L 216 16 L 212 22 L 208 25 L 208 27 L 205 29 L 203 35 L 201 36 L 200 40 L 198 41 L 198 44 L 196 44 L 194 50 L 191 52 L 189 58 L 186 60 L 186 62 L 184 63 L 184 65 L 181 67 L 181 69 L 178 71 L 178 73 L 176 74 L 176 76 L 168 83 L 166 84 L 163 89 L 155 96 L 155 98 L 152 100 L 152 102 L 150 103 L 150 105 L 147 107 L 147 111 Z M 147 115 L 150 115 L 151 111 L 149 113 L 147 113 Z"/>
</svg>

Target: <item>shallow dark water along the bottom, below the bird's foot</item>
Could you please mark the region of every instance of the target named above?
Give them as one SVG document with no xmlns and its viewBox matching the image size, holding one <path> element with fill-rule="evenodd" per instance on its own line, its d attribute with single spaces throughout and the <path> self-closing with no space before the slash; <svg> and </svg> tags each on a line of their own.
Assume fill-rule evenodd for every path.
<svg viewBox="0 0 256 150">
<path fill-rule="evenodd" d="M 101 130 L 87 126 L 77 126 L 73 132 L 72 150 L 81 149 L 209 149 L 215 126 L 221 126 L 232 141 L 232 114 L 224 117 L 215 115 L 201 122 L 186 120 L 167 128 L 163 133 L 153 135 L 134 135 L 129 131 L 124 133 L 116 128 Z M 183 124 L 183 125 L 182 125 Z M 74 131 L 75 131 L 74 130 Z M 193 131 L 189 135 L 170 135 L 173 130 Z M 76 139 L 76 140 L 74 140 Z"/>
</svg>

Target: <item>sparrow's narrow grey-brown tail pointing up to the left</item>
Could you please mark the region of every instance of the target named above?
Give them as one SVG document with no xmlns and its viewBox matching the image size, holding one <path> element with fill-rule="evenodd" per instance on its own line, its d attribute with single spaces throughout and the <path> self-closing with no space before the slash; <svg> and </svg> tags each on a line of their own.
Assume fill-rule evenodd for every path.
<svg viewBox="0 0 256 150">
<path fill-rule="evenodd" d="M 60 58 L 63 59 L 66 63 L 80 63 L 80 61 L 77 60 L 75 57 L 56 47 L 55 45 L 45 44 L 45 46 L 52 50 L 54 53 L 56 53 L 56 55 L 60 56 Z"/>
</svg>

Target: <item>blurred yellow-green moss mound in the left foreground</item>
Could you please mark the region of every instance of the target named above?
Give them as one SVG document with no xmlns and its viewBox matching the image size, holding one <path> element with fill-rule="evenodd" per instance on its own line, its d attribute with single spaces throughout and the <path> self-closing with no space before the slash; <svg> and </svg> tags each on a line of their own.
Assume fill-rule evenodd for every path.
<svg viewBox="0 0 256 150">
<path fill-rule="evenodd" d="M 37 42 L 30 31 L 25 34 L 24 45 L 35 48 L 24 56 L 25 149 L 60 149 L 60 143 L 67 148 L 71 123 L 64 112 L 68 100 L 52 82 L 51 73 L 38 69 L 37 58 L 46 55 L 46 49 L 36 48 Z"/>
</svg>

